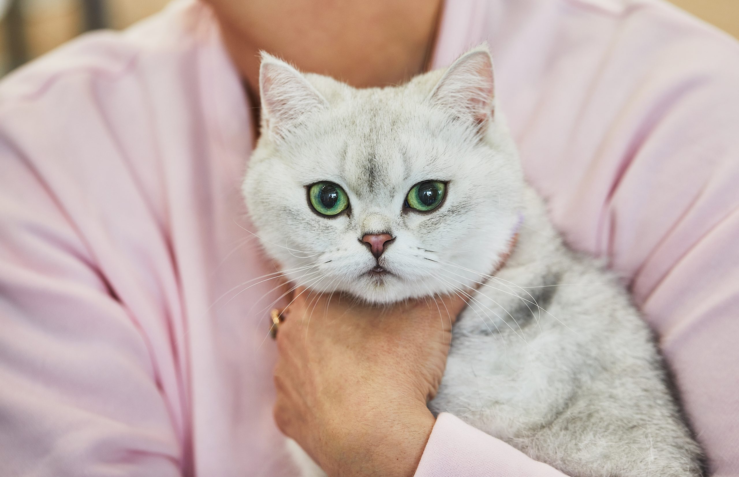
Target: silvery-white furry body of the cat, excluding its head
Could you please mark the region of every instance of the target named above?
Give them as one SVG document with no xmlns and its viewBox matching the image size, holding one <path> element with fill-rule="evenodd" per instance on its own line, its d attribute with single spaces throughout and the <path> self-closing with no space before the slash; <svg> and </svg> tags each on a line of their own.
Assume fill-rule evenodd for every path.
<svg viewBox="0 0 739 477">
<path fill-rule="evenodd" d="M 568 476 L 699 475 L 698 448 L 627 293 L 568 250 L 528 196 L 514 252 L 454 326 L 429 408 Z"/>
</svg>

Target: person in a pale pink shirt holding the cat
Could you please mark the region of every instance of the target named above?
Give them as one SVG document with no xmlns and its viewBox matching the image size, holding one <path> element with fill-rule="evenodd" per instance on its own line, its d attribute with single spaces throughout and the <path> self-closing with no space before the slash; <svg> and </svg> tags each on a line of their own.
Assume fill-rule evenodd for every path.
<svg viewBox="0 0 739 477">
<path fill-rule="evenodd" d="M 178 0 L 9 75 L 1 473 L 295 475 L 282 429 L 331 476 L 561 475 L 424 411 L 436 306 L 370 330 L 306 294 L 275 346 L 239 192 L 260 49 L 383 86 L 483 41 L 528 179 L 630 286 L 710 473 L 739 476 L 739 47 L 658 0 Z"/>
</svg>

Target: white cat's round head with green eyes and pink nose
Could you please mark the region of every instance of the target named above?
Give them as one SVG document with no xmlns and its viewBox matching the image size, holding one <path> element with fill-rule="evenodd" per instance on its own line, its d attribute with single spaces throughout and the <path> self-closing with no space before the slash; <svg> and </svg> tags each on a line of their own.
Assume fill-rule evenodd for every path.
<svg viewBox="0 0 739 477">
<path fill-rule="evenodd" d="M 508 251 L 523 179 L 490 54 L 353 89 L 264 55 L 243 193 L 295 284 L 389 303 L 469 286 Z"/>
</svg>

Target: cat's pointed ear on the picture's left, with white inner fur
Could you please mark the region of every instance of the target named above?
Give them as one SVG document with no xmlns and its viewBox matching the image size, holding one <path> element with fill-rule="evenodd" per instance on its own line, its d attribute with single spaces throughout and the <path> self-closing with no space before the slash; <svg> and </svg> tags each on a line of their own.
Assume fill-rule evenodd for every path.
<svg viewBox="0 0 739 477">
<path fill-rule="evenodd" d="M 321 93 L 297 69 L 265 52 L 259 68 L 259 97 L 262 126 L 278 140 L 308 114 L 328 106 Z"/>
</svg>

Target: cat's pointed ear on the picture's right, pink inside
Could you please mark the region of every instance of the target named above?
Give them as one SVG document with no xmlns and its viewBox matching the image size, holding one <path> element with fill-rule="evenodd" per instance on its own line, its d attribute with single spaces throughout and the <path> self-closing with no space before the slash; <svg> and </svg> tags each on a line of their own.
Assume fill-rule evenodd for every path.
<svg viewBox="0 0 739 477">
<path fill-rule="evenodd" d="M 483 44 L 449 66 L 430 99 L 435 106 L 469 121 L 482 132 L 494 115 L 494 86 L 493 60 Z"/>
</svg>

